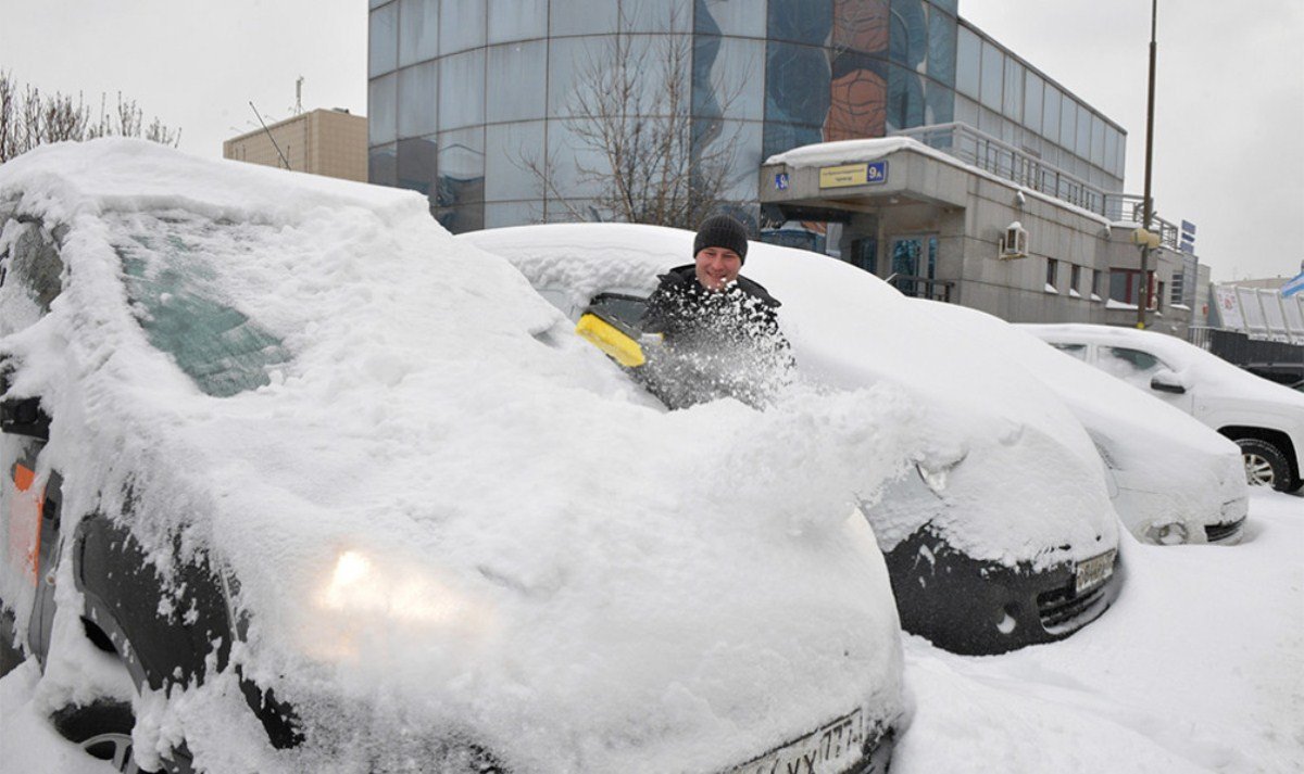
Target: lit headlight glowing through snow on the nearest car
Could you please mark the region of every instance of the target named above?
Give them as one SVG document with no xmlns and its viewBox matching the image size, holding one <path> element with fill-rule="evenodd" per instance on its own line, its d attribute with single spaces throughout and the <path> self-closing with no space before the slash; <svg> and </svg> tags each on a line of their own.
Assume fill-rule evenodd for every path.
<svg viewBox="0 0 1304 774">
<path fill-rule="evenodd" d="M 356 658 L 370 645 L 393 650 L 475 641 L 490 628 L 490 609 L 412 562 L 379 562 L 346 550 L 313 599 L 309 654 L 326 661 Z"/>
</svg>

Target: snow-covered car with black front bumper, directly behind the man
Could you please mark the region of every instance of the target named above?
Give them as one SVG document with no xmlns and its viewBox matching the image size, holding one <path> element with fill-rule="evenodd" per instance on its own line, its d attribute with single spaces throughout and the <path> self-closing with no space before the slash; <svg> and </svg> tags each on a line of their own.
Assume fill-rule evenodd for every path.
<svg viewBox="0 0 1304 774">
<path fill-rule="evenodd" d="M 659 274 L 691 262 L 694 235 L 566 224 L 456 238 L 506 257 L 578 318 L 608 294 L 636 306 Z M 752 242 L 742 274 L 782 302 L 799 373 L 788 400 L 872 384 L 875 400 L 893 395 L 917 416 L 909 474 L 866 504 L 902 628 L 952 652 L 1000 653 L 1065 637 L 1104 611 L 1118 517 L 1099 456 L 1059 400 L 840 261 Z"/>
</svg>

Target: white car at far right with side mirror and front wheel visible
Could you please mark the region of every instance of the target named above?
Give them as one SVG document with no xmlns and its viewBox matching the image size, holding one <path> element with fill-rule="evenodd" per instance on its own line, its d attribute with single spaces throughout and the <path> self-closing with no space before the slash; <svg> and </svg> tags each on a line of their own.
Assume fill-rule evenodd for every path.
<svg viewBox="0 0 1304 774">
<path fill-rule="evenodd" d="M 1091 324 L 1022 327 L 1234 440 L 1251 485 L 1304 487 L 1304 394 L 1164 334 Z"/>
</svg>

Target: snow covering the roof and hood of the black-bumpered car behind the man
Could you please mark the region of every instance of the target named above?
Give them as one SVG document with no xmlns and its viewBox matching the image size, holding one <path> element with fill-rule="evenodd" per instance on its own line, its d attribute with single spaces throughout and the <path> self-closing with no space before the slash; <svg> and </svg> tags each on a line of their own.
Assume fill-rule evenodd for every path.
<svg viewBox="0 0 1304 774">
<path fill-rule="evenodd" d="M 657 274 L 691 262 L 694 235 L 569 224 L 458 238 L 507 257 L 559 306 L 583 310 L 600 291 L 649 293 Z M 1043 568 L 1116 546 L 1090 439 L 1045 387 L 1013 375 L 1000 353 L 974 352 L 878 278 L 824 255 L 752 242 L 742 274 L 782 302 L 780 323 L 805 377 L 795 390 L 837 394 L 872 384 L 918 407 L 909 451 L 949 507 L 878 509 L 874 529 L 884 551 L 928 519 L 955 549 L 1009 567 Z"/>
</svg>

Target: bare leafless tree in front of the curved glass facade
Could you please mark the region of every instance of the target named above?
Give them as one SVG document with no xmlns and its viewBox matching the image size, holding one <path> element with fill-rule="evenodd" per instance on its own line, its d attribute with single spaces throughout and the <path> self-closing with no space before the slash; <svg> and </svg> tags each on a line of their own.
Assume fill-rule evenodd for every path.
<svg viewBox="0 0 1304 774">
<path fill-rule="evenodd" d="M 694 229 L 721 205 L 738 146 L 721 116 L 737 89 L 712 90 L 708 115 L 694 116 L 691 46 L 685 34 L 621 33 L 578 57 L 569 115 L 559 120 L 576 145 L 575 180 L 592 185 L 595 206 L 583 211 L 567 198 L 574 192 L 559 189 L 556 154 L 522 154 L 522 165 L 572 218 Z"/>
</svg>

